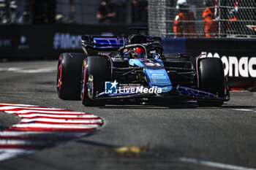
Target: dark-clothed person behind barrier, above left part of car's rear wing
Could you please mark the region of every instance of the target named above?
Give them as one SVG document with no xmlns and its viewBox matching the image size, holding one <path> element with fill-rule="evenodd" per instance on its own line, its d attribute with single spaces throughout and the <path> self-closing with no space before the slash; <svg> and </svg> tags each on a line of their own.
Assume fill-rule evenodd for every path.
<svg viewBox="0 0 256 170">
<path fill-rule="evenodd" d="M 109 23 L 115 20 L 116 12 L 113 12 L 109 5 L 109 0 L 103 0 L 96 15 L 99 22 Z"/>
</svg>

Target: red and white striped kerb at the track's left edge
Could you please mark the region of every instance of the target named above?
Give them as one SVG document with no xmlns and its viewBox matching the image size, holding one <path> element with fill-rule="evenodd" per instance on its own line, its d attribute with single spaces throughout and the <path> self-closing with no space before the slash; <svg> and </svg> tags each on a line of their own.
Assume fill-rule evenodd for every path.
<svg viewBox="0 0 256 170">
<path fill-rule="evenodd" d="M 103 124 L 85 112 L 26 104 L 0 103 L 0 112 L 20 117 L 20 123 L 0 131 L 0 161 L 85 136 Z"/>
</svg>

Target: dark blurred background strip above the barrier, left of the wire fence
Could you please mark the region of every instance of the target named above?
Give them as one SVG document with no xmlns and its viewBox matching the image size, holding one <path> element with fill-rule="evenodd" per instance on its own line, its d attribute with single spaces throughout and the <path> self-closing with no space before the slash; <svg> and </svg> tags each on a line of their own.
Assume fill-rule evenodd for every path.
<svg viewBox="0 0 256 170">
<path fill-rule="evenodd" d="M 1 24 L 102 23 L 97 19 L 102 0 L 1 0 L 0 3 Z M 107 3 L 116 13 L 111 23 L 148 23 L 147 0 L 112 0 Z"/>
</svg>

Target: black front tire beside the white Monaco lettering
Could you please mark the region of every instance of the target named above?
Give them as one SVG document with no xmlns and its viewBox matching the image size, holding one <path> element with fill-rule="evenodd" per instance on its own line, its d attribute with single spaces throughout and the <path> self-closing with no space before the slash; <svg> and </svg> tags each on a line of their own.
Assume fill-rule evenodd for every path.
<svg viewBox="0 0 256 170">
<path fill-rule="evenodd" d="M 219 58 L 203 58 L 198 63 L 200 90 L 213 93 L 218 98 L 225 96 L 224 69 Z M 221 107 L 223 101 L 197 101 L 200 107 Z"/>
</svg>

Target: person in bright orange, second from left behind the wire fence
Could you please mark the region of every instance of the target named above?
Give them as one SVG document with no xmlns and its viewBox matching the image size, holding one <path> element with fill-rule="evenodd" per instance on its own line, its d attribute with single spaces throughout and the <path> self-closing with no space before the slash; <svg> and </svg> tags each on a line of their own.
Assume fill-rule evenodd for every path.
<svg viewBox="0 0 256 170">
<path fill-rule="evenodd" d="M 215 37 L 219 33 L 219 22 L 214 15 L 215 1 L 204 0 L 203 4 L 207 7 L 203 11 L 203 23 L 205 26 L 206 37 Z"/>
</svg>

